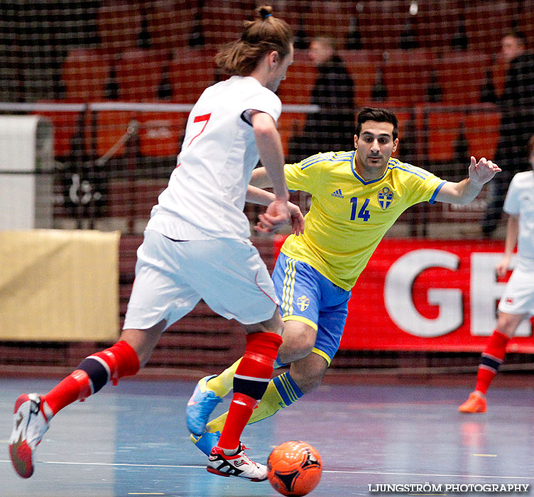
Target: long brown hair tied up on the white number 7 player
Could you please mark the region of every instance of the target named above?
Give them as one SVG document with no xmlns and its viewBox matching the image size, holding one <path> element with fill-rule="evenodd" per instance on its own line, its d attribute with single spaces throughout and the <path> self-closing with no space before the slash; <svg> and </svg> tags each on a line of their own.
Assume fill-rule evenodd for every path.
<svg viewBox="0 0 534 497">
<path fill-rule="evenodd" d="M 225 45 L 215 55 L 215 62 L 224 72 L 249 76 L 267 53 L 276 51 L 280 59 L 288 55 L 293 31 L 288 23 L 273 17 L 272 11 L 271 6 L 258 7 L 259 18 L 245 23 L 241 39 Z"/>
</svg>

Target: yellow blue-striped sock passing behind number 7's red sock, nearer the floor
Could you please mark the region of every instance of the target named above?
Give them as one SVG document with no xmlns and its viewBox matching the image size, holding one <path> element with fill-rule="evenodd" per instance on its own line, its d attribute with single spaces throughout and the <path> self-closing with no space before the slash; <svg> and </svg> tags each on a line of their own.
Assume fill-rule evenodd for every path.
<svg viewBox="0 0 534 497">
<path fill-rule="evenodd" d="M 258 422 L 264 420 L 266 417 L 275 415 L 279 410 L 287 408 L 288 405 L 293 404 L 295 400 L 298 400 L 302 396 L 303 393 L 288 372 L 276 376 L 276 378 L 269 381 L 267 390 L 258 403 L 258 407 L 252 411 L 251 418 L 247 425 L 251 425 L 253 422 Z M 222 432 L 222 427 L 224 427 L 224 422 L 227 420 L 227 415 L 228 412 L 210 421 L 206 425 L 206 430 L 208 432 Z"/>
</svg>

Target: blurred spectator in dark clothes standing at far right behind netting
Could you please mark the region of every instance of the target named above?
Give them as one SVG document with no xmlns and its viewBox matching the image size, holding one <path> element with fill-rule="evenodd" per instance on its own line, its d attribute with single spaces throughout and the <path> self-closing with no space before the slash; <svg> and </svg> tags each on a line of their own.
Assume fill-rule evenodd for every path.
<svg viewBox="0 0 534 497">
<path fill-rule="evenodd" d="M 501 53 L 509 67 L 503 93 L 497 99 L 501 126 L 494 161 L 503 172 L 491 182 L 488 207 L 481 221 L 485 236 L 494 233 L 501 219 L 511 179 L 528 168 L 527 143 L 534 134 L 534 53 L 526 49 L 525 35 L 515 31 L 503 37 Z"/>
</svg>

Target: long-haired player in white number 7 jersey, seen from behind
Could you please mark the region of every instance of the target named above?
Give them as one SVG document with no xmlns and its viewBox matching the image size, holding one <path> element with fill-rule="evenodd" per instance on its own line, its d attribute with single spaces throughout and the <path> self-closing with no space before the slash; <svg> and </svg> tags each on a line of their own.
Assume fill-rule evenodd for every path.
<svg viewBox="0 0 534 497">
<path fill-rule="evenodd" d="M 33 452 L 50 419 L 108 381 L 137 373 L 162 332 L 202 298 L 215 312 L 243 323 L 247 332 L 228 422 L 207 470 L 266 479 L 266 466 L 244 454 L 240 437 L 271 379 L 283 321 L 267 268 L 249 241 L 243 208 L 246 200 L 268 206 L 260 215 L 263 230 L 292 217 L 298 233 L 303 217 L 288 204 L 276 130 L 281 103 L 274 92 L 293 62 L 293 34 L 271 15 L 271 7 L 257 12 L 241 39 L 217 54 L 218 65 L 231 77 L 207 88 L 191 111 L 178 165 L 138 249 L 119 342 L 84 359 L 46 395 L 23 394 L 16 400 L 9 452 L 23 478 L 33 474 Z M 273 181 L 274 196 L 248 186 L 259 159 Z"/>
</svg>

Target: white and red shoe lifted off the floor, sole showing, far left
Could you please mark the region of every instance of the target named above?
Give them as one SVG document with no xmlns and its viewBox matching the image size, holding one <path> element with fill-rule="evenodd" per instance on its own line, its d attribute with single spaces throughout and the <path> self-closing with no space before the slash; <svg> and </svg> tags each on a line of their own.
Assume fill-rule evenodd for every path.
<svg viewBox="0 0 534 497">
<path fill-rule="evenodd" d="M 9 438 L 9 455 L 15 471 L 22 478 L 33 474 L 33 453 L 48 430 L 43 402 L 36 393 L 24 393 L 15 402 L 13 410 L 13 430 Z"/>
</svg>

